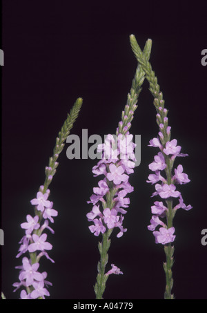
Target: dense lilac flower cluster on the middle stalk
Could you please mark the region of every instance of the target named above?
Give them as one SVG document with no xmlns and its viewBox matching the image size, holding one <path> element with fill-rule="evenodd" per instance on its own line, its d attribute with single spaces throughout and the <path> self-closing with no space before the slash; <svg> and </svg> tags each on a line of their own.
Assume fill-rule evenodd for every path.
<svg viewBox="0 0 207 313">
<path fill-rule="evenodd" d="M 102 152 L 102 159 L 92 168 L 94 176 L 103 175 L 93 189 L 88 203 L 92 203 L 92 211 L 86 216 L 93 225 L 89 229 L 95 236 L 104 234 L 106 229 L 119 228 L 117 237 L 121 237 L 127 230 L 123 227 L 124 214 L 130 200 L 126 195 L 133 191 L 128 182 L 129 174 L 135 167 L 135 144 L 132 135 L 127 131 L 125 135 L 119 133 L 107 135 L 104 144 L 99 144 L 97 151 Z M 100 205 L 103 209 L 101 209 Z"/>
</svg>

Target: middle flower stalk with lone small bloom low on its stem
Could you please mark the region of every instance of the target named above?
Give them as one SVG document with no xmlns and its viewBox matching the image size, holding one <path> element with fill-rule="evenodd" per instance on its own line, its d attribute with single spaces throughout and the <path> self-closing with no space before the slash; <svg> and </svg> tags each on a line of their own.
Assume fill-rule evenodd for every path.
<svg viewBox="0 0 207 313">
<path fill-rule="evenodd" d="M 151 43 L 147 41 L 143 52 L 147 59 L 150 57 L 150 50 Z M 98 245 L 100 261 L 98 263 L 97 283 L 95 284 L 97 299 L 103 298 L 106 281 L 110 274 L 123 274 L 114 264 L 112 264 L 112 269 L 106 272 L 106 265 L 108 263 L 110 235 L 113 229 L 119 227 L 118 238 L 127 230 L 122 226 L 123 215 L 126 214 L 125 209 L 130 203 L 126 195 L 133 191 L 133 187 L 128 182 L 128 175 L 133 173 L 136 161 L 133 152 L 135 144 L 132 142 L 133 136 L 130 135 L 129 129 L 137 108 L 137 100 L 144 78 L 144 70 L 141 66 L 137 66 L 116 136 L 107 135 L 105 143 L 98 146 L 97 150 L 102 152 L 102 159 L 97 166 L 92 168 L 94 176 L 104 176 L 103 180 L 99 181 L 99 187 L 93 189 L 94 194 L 88 201 L 88 203 L 92 203 L 93 207 L 92 211 L 87 214 L 88 221 L 94 222 L 94 225 L 89 227 L 90 231 L 95 236 L 102 234 L 102 241 Z"/>
</svg>

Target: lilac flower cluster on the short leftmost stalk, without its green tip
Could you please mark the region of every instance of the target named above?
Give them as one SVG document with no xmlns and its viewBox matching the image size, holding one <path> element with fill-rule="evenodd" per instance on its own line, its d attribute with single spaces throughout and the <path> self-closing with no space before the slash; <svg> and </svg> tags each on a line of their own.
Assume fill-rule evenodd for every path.
<svg viewBox="0 0 207 313">
<path fill-rule="evenodd" d="M 49 189 L 46 193 L 43 193 L 43 186 L 40 187 L 37 192 L 37 198 L 32 199 L 30 202 L 35 206 L 35 216 L 32 217 L 30 214 L 26 216 L 27 222 L 21 224 L 21 228 L 25 229 L 25 235 L 20 240 L 19 253 L 17 258 L 26 252 L 29 253 L 30 258 L 23 256 L 22 265 L 15 268 L 20 269 L 19 282 L 14 283 L 16 287 L 14 292 L 19 287 L 25 287 L 21 290 L 21 299 L 35 299 L 45 298 L 50 296 L 45 285 L 52 285 L 46 281 L 47 273 L 38 272 L 39 260 L 41 256 L 46 256 L 49 260 L 54 263 L 54 260 L 48 256 L 48 250 L 52 249 L 52 245 L 47 242 L 47 234 L 43 233 L 44 229 L 49 229 L 52 234 L 54 231 L 49 227 L 50 222 L 54 222 L 53 217 L 57 216 L 57 211 L 53 209 L 53 202 L 48 200 Z"/>
</svg>

